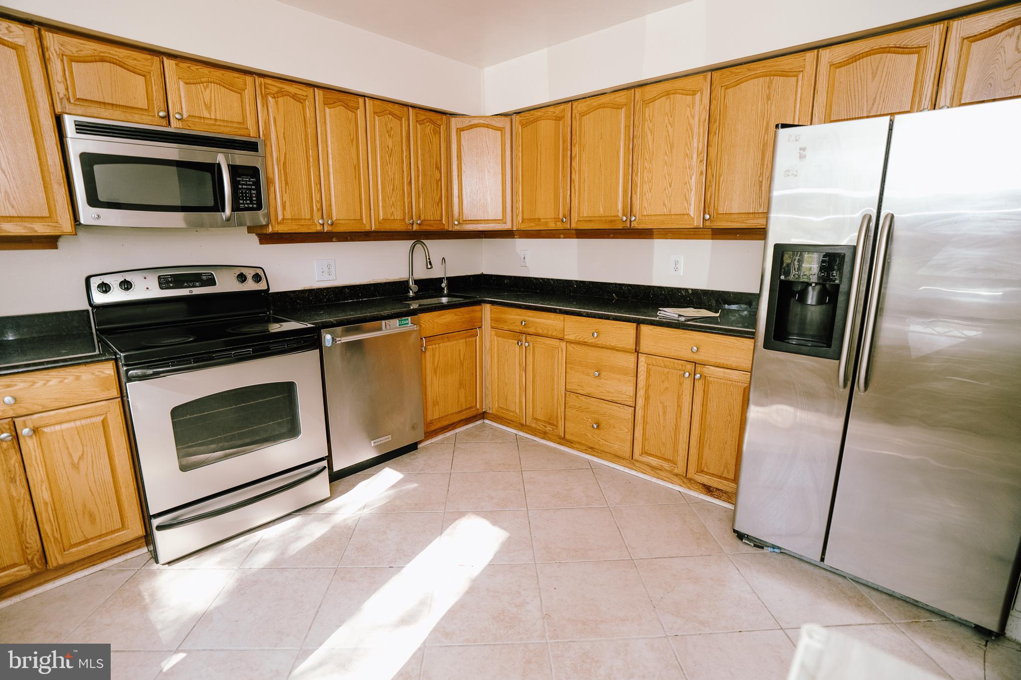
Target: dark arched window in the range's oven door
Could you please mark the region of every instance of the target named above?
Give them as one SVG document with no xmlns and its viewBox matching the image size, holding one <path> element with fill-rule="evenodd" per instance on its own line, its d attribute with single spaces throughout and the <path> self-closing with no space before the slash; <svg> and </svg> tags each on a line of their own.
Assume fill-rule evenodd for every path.
<svg viewBox="0 0 1021 680">
<path fill-rule="evenodd" d="M 207 395 L 171 409 L 182 472 L 295 439 L 298 386 L 265 382 Z"/>
</svg>

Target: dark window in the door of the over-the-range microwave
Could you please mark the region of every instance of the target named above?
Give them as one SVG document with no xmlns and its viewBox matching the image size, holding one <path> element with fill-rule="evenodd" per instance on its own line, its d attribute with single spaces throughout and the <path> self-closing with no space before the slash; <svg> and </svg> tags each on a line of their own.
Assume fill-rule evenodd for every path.
<svg viewBox="0 0 1021 680">
<path fill-rule="evenodd" d="M 214 162 L 83 152 L 90 207 L 146 212 L 224 212 L 224 178 Z"/>
</svg>

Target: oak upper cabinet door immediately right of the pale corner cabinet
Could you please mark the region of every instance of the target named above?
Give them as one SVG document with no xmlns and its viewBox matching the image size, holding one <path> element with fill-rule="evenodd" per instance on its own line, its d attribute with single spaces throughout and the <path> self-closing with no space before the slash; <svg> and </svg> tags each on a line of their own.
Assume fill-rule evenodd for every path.
<svg viewBox="0 0 1021 680">
<path fill-rule="evenodd" d="M 571 103 L 514 116 L 515 228 L 560 229 L 571 210 Z"/>
</svg>

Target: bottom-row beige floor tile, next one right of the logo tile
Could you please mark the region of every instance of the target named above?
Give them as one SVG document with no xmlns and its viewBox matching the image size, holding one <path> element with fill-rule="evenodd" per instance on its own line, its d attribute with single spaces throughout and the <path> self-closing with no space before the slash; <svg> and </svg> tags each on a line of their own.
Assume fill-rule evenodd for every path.
<svg viewBox="0 0 1021 680">
<path fill-rule="evenodd" d="M 286 680 L 297 649 L 182 651 L 159 674 L 159 680 Z"/>
</svg>

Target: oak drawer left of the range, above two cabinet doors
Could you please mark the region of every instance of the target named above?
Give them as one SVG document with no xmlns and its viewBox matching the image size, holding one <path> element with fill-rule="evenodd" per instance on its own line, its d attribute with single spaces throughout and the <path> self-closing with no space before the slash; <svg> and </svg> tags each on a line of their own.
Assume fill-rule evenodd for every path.
<svg viewBox="0 0 1021 680">
<path fill-rule="evenodd" d="M 119 395 L 112 361 L 0 376 L 0 418 L 89 404 Z"/>
</svg>

